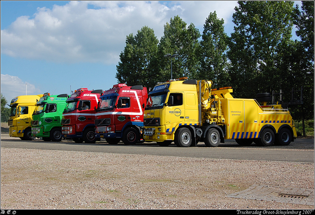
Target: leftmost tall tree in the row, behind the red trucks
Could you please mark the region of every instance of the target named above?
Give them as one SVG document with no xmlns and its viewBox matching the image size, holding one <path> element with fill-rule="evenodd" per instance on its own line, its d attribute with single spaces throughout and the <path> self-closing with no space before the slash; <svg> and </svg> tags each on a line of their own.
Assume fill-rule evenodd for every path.
<svg viewBox="0 0 315 215">
<path fill-rule="evenodd" d="M 120 54 L 116 78 L 128 86 L 154 87 L 158 79 L 158 39 L 153 29 L 144 26 L 137 35 L 126 37 L 126 47 Z"/>
</svg>

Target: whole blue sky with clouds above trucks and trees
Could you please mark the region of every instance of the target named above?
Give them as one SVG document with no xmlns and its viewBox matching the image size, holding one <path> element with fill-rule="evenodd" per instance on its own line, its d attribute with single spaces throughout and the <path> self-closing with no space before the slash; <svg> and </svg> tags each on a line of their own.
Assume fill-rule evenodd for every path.
<svg viewBox="0 0 315 215">
<path fill-rule="evenodd" d="M 9 103 L 26 93 L 108 90 L 117 83 L 116 65 L 130 33 L 136 35 L 148 26 L 160 39 L 164 25 L 176 15 L 202 33 L 206 18 L 216 11 L 230 35 L 237 5 L 237 1 L 1 1 L 1 93 Z"/>
</svg>

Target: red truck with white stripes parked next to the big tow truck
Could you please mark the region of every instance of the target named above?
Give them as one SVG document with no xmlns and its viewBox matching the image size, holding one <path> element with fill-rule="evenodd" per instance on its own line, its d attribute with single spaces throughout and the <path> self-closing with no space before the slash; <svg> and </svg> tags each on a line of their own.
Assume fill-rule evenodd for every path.
<svg viewBox="0 0 315 215">
<path fill-rule="evenodd" d="M 126 145 L 143 140 L 143 112 L 148 100 L 147 88 L 136 85 L 116 84 L 100 96 L 95 114 L 96 138 L 109 144 L 121 140 Z"/>
</svg>

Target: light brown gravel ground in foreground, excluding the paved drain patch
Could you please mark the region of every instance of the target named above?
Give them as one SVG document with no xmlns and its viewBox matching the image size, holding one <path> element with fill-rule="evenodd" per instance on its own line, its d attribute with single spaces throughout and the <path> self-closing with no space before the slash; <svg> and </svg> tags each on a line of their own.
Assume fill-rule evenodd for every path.
<svg viewBox="0 0 315 215">
<path fill-rule="evenodd" d="M 231 198 L 252 184 L 314 190 L 314 164 L 1 148 L 3 209 L 314 209 Z"/>
</svg>

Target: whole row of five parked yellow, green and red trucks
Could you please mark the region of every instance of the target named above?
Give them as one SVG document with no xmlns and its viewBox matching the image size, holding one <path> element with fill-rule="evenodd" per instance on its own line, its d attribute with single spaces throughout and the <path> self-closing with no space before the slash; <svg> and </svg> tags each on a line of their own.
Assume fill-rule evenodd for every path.
<svg viewBox="0 0 315 215">
<path fill-rule="evenodd" d="M 23 140 L 72 139 L 126 145 L 157 142 L 167 146 L 217 147 L 226 139 L 240 145 L 288 145 L 297 137 L 293 119 L 270 93 L 256 99 L 233 98 L 230 87 L 181 78 L 143 86 L 80 88 L 68 94 L 21 95 L 10 103 L 9 134 Z M 272 104 L 270 101 L 273 101 Z"/>
</svg>

